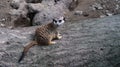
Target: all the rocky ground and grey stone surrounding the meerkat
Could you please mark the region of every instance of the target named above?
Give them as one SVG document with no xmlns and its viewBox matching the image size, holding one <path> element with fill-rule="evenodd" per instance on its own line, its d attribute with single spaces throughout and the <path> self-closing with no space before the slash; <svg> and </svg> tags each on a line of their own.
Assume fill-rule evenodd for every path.
<svg viewBox="0 0 120 67">
<path fill-rule="evenodd" d="M 0 0 L 0 67 L 120 67 L 120 0 Z M 23 47 L 38 27 L 67 18 L 56 45 Z"/>
</svg>

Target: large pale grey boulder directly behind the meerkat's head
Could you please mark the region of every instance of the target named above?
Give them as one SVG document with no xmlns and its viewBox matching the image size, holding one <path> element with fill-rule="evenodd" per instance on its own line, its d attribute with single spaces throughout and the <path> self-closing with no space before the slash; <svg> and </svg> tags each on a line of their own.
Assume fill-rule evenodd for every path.
<svg viewBox="0 0 120 67">
<path fill-rule="evenodd" d="M 33 18 L 33 25 L 49 23 L 49 21 L 51 21 L 53 18 L 64 16 L 66 11 L 67 10 L 62 3 L 55 6 L 47 6 L 45 9 L 43 8 L 43 10 L 36 13 L 35 17 Z"/>
</svg>

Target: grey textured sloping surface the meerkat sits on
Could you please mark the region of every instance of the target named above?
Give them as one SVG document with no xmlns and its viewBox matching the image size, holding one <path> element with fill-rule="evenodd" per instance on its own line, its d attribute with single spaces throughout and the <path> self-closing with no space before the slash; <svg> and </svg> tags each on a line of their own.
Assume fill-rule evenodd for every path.
<svg viewBox="0 0 120 67">
<path fill-rule="evenodd" d="M 66 22 L 60 28 L 63 38 L 56 45 L 31 48 L 19 64 L 23 47 L 32 39 L 35 28 L 0 28 L 1 67 L 120 66 L 120 15 Z"/>
</svg>

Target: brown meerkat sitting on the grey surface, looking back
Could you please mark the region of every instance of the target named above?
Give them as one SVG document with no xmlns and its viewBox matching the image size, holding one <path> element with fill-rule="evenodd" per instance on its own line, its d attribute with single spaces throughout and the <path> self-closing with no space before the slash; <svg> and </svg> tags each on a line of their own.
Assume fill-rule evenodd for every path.
<svg viewBox="0 0 120 67">
<path fill-rule="evenodd" d="M 20 62 L 28 50 L 35 45 L 52 45 L 56 44 L 53 39 L 61 39 L 61 34 L 57 31 L 57 28 L 65 22 L 64 17 L 53 19 L 51 23 L 38 27 L 35 31 L 35 40 L 31 41 L 27 46 L 24 47 L 22 55 L 18 62 Z"/>
</svg>

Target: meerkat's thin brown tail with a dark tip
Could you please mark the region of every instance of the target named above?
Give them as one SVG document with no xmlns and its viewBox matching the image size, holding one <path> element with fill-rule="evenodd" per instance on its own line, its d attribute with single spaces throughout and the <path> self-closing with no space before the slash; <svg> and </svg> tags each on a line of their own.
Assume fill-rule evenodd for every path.
<svg viewBox="0 0 120 67">
<path fill-rule="evenodd" d="M 37 42 L 31 41 L 27 46 L 24 47 L 24 50 L 23 50 L 22 55 L 20 56 L 20 58 L 18 60 L 18 63 L 24 58 L 24 56 L 28 52 L 28 50 L 35 45 L 37 45 Z"/>
</svg>

